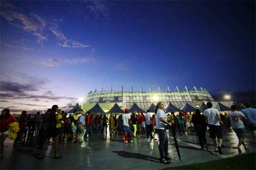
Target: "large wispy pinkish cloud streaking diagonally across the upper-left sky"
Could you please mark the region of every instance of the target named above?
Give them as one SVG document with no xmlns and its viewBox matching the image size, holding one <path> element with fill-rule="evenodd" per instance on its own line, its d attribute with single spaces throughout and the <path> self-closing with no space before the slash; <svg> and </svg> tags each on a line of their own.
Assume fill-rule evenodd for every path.
<svg viewBox="0 0 256 170">
<path fill-rule="evenodd" d="M 19 13 L 19 9 L 7 1 L 2 1 L 1 5 L 3 8 L 3 10 L 1 10 L 1 16 L 9 21 L 11 25 L 31 33 L 34 37 L 36 37 L 36 42 L 38 42 L 41 47 L 43 47 L 43 42 L 48 40 L 48 36 L 45 33 L 47 29 L 49 29 L 57 38 L 57 45 L 59 47 L 72 47 L 75 49 L 91 47 L 90 45 L 66 38 L 66 36 L 58 29 L 58 24 L 63 23 L 63 19 L 45 21 L 43 18 L 33 13 L 30 13 L 29 16 Z M 101 8 L 102 7 L 100 7 L 100 9 Z"/>
</svg>

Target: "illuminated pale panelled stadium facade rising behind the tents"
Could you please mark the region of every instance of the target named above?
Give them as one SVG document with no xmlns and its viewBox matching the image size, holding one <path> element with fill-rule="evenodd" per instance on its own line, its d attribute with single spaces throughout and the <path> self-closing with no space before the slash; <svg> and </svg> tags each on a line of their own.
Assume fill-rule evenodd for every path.
<svg viewBox="0 0 256 170">
<path fill-rule="evenodd" d="M 196 88 L 194 86 L 191 90 L 188 90 L 187 86 L 185 86 L 185 88 L 180 91 L 178 86 L 176 86 L 176 88 L 171 91 L 168 86 L 163 92 L 160 86 L 157 91 L 152 91 L 150 86 L 149 91 L 144 92 L 142 91 L 142 87 L 140 91 L 133 91 L 133 87 L 131 87 L 131 91 L 123 91 L 122 86 L 121 91 L 113 91 L 112 87 L 110 91 L 105 91 L 103 88 L 101 91 L 97 91 L 96 89 L 93 92 L 90 91 L 82 108 L 90 109 L 95 103 L 99 103 L 102 109 L 110 109 L 115 103 L 120 107 L 130 108 L 133 103 L 136 103 L 140 108 L 147 110 L 152 103 L 156 105 L 159 101 L 163 101 L 165 106 L 171 102 L 178 108 L 182 108 L 186 102 L 193 107 L 199 107 L 202 102 L 210 101 L 213 102 L 213 105 L 217 103 L 213 100 L 206 88 L 202 87 Z M 224 102 L 223 104 L 230 107 L 230 102 Z"/>
</svg>

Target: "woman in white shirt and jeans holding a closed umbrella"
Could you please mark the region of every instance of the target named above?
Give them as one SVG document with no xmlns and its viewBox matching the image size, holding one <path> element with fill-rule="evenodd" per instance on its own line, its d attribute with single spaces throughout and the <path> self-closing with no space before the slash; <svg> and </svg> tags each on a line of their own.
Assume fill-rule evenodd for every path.
<svg viewBox="0 0 256 170">
<path fill-rule="evenodd" d="M 168 137 L 166 133 L 165 126 L 171 126 L 171 123 L 167 121 L 167 115 L 163 111 L 164 103 L 158 102 L 155 108 L 156 114 L 156 133 L 159 135 L 159 153 L 160 153 L 160 162 L 164 164 L 169 164 L 166 160 L 171 160 L 168 154 Z"/>
</svg>

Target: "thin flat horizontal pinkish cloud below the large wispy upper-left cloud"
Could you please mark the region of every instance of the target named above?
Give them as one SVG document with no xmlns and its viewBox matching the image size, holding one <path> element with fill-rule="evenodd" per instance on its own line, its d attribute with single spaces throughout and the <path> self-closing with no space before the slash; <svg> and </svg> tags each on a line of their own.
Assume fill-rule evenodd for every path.
<svg viewBox="0 0 256 170">
<path fill-rule="evenodd" d="M 60 65 L 60 62 L 63 63 L 69 63 L 69 64 L 76 64 L 76 63 L 96 63 L 96 59 L 89 56 L 89 57 L 83 57 L 83 58 L 73 58 L 73 59 L 61 59 L 61 58 L 55 58 L 55 59 L 48 59 L 47 61 L 39 61 L 38 63 L 40 65 L 45 65 L 48 67 L 58 67 Z"/>
</svg>

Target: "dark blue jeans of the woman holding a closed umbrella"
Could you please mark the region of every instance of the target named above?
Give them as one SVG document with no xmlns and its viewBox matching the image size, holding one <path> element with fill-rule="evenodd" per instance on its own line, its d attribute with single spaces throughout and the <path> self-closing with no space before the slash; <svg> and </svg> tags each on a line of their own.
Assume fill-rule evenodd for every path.
<svg viewBox="0 0 256 170">
<path fill-rule="evenodd" d="M 164 159 L 165 157 L 169 156 L 168 154 L 168 137 L 167 133 L 164 129 L 155 129 L 156 133 L 159 136 L 159 153 L 160 153 L 160 158 Z"/>
</svg>

